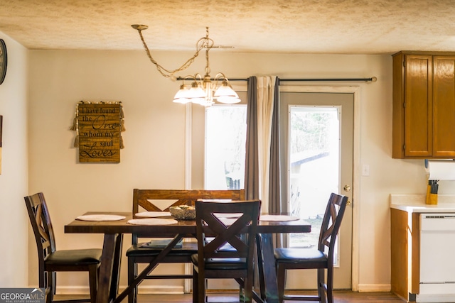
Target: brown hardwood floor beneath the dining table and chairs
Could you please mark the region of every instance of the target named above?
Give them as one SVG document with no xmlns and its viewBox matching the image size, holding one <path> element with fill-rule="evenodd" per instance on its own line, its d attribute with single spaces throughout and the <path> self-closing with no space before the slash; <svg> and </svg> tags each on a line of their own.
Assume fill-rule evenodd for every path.
<svg viewBox="0 0 455 303">
<path fill-rule="evenodd" d="M 76 299 L 76 296 L 57 295 L 55 299 Z M 235 301 L 236 294 L 209 294 L 209 302 L 238 302 Z M 123 302 L 127 302 L 124 299 Z M 390 292 L 348 292 L 336 291 L 334 294 L 334 303 L 399 303 L 402 301 L 399 297 Z M 191 294 L 139 294 L 138 303 L 191 303 Z M 291 301 L 287 301 L 291 302 Z M 293 301 L 299 302 L 299 301 Z M 301 301 L 303 302 L 303 301 Z"/>
</svg>

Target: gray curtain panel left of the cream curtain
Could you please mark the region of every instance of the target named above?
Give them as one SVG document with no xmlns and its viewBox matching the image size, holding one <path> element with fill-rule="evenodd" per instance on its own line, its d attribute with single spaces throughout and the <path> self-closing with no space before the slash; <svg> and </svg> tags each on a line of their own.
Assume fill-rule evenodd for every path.
<svg viewBox="0 0 455 303">
<path fill-rule="evenodd" d="M 245 199 L 259 199 L 257 146 L 257 78 L 248 78 L 247 143 L 245 155 Z"/>
</svg>

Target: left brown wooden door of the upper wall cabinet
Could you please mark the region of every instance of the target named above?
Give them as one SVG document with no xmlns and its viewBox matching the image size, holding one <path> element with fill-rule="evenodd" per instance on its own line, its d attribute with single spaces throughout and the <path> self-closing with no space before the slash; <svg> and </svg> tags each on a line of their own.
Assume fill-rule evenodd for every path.
<svg viewBox="0 0 455 303">
<path fill-rule="evenodd" d="M 406 55 L 405 156 L 432 155 L 432 56 Z"/>
</svg>

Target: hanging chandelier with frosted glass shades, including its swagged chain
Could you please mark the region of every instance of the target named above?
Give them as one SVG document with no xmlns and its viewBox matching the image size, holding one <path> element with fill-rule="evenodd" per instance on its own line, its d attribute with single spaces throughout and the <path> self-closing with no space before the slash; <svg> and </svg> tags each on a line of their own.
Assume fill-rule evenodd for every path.
<svg viewBox="0 0 455 303">
<path fill-rule="evenodd" d="M 213 48 L 213 40 L 208 37 L 208 28 L 206 28 L 205 37 L 200 38 L 196 43 L 196 53 L 193 57 L 186 60 L 186 62 L 176 70 L 166 70 L 166 68 L 159 65 L 159 63 L 156 62 L 151 56 L 150 50 L 147 47 L 141 33 L 149 28 L 148 26 L 133 24 L 132 28 L 139 32 L 146 54 L 150 61 L 156 66 L 156 69 L 160 72 L 160 74 L 170 79 L 179 79 L 182 81 L 180 89 L 173 98 L 174 102 L 182 104 L 192 102 L 203 106 L 212 106 L 212 104 L 215 103 L 214 101 L 224 104 L 235 104 L 240 102 L 237 93 L 234 89 L 232 89 L 229 84 L 229 79 L 223 74 L 223 72 L 218 72 L 218 74 L 216 74 L 213 78 L 210 77 L 208 51 L 210 48 Z M 186 68 L 194 62 L 196 57 L 198 57 L 200 50 L 203 50 L 203 48 L 205 48 L 205 75 L 202 76 L 200 74 L 196 74 L 177 78 L 175 75 L 176 72 L 186 70 Z M 185 81 L 191 82 L 191 85 L 186 84 Z"/>
</svg>

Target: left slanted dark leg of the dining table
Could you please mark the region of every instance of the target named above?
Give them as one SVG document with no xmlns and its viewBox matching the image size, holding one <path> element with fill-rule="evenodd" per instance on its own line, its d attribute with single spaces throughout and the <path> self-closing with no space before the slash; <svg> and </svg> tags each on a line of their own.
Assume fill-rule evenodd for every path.
<svg viewBox="0 0 455 303">
<path fill-rule="evenodd" d="M 98 277 L 97 303 L 109 302 L 109 292 L 114 268 L 116 233 L 106 233 L 102 244 L 100 274 Z"/>
</svg>

